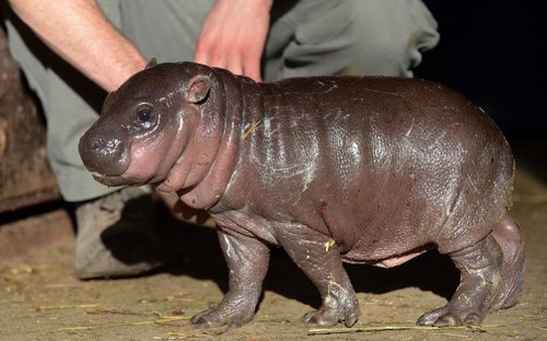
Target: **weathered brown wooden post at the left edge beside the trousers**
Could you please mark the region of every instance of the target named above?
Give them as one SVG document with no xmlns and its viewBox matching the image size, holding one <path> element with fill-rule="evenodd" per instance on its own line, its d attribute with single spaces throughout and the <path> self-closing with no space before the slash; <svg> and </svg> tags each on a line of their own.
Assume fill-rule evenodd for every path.
<svg viewBox="0 0 547 341">
<path fill-rule="evenodd" d="M 59 198 L 45 144 L 45 121 L 0 27 L 0 213 Z"/>
</svg>

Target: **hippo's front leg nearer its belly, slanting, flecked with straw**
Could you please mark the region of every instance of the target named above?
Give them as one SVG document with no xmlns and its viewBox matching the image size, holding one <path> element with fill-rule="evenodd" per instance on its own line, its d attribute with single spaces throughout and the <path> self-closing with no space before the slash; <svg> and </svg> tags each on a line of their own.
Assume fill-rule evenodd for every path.
<svg viewBox="0 0 547 341">
<path fill-rule="evenodd" d="M 303 317 L 307 325 L 331 327 L 344 321 L 351 327 L 359 317 L 359 302 L 338 246 L 324 234 L 304 225 L 279 228 L 277 239 L 319 291 L 323 304 Z"/>
</svg>

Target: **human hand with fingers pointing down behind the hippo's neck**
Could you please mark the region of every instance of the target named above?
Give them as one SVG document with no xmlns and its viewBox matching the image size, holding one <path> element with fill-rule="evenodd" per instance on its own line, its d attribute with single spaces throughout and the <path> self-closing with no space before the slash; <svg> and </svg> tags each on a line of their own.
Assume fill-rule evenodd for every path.
<svg viewBox="0 0 547 341">
<path fill-rule="evenodd" d="M 260 81 L 272 0 L 219 0 L 206 17 L 194 60 Z"/>
</svg>

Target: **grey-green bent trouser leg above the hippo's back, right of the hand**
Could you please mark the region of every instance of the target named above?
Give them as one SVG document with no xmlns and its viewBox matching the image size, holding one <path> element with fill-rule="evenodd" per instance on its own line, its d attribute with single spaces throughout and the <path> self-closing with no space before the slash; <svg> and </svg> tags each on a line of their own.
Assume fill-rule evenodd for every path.
<svg viewBox="0 0 547 341">
<path fill-rule="evenodd" d="M 267 48 L 267 57 L 274 58 L 266 63 L 266 79 L 311 74 L 411 77 L 421 51 L 439 40 L 437 22 L 419 0 L 302 3 L 300 11 L 280 21 L 282 25 L 272 26 L 268 44 L 276 48 Z"/>
</svg>

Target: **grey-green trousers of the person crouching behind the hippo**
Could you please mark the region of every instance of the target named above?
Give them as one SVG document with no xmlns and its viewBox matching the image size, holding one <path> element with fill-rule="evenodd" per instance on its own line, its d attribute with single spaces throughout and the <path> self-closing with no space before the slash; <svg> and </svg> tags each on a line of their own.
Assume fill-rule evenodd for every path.
<svg viewBox="0 0 547 341">
<path fill-rule="evenodd" d="M 102 0 L 104 13 L 146 57 L 191 60 L 213 0 Z M 114 191 L 94 181 L 78 142 L 96 120 L 105 93 L 47 49 L 2 1 L 10 48 L 47 118 L 47 152 L 63 198 Z M 421 51 L 439 42 L 437 22 L 419 0 L 277 1 L 263 58 L 272 80 L 313 74 L 411 77 Z"/>
</svg>

